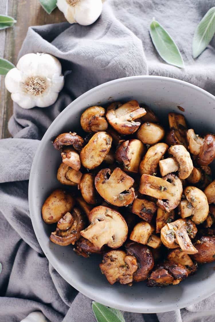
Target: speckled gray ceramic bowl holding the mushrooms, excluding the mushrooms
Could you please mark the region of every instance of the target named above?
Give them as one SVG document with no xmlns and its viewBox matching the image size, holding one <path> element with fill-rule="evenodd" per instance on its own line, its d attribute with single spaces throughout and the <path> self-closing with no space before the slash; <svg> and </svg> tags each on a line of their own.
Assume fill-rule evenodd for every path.
<svg viewBox="0 0 215 322">
<path fill-rule="evenodd" d="M 81 131 L 80 116 L 89 106 L 116 100 L 137 99 L 146 103 L 167 121 L 168 112 L 180 112 L 197 133 L 214 131 L 215 97 L 208 92 L 172 78 L 136 76 L 102 84 L 75 99 L 54 120 L 45 133 L 34 157 L 29 182 L 29 206 L 35 234 L 44 254 L 58 273 L 75 289 L 107 306 L 125 311 L 155 313 L 171 311 L 198 302 L 215 292 L 214 263 L 199 267 L 198 272 L 176 286 L 148 288 L 145 282 L 132 287 L 111 286 L 99 269 L 100 256 L 77 256 L 73 246 L 61 247 L 49 241 L 50 226 L 41 218 L 46 197 L 59 187 L 56 171 L 61 162 L 53 138 L 67 131 Z"/>
</svg>

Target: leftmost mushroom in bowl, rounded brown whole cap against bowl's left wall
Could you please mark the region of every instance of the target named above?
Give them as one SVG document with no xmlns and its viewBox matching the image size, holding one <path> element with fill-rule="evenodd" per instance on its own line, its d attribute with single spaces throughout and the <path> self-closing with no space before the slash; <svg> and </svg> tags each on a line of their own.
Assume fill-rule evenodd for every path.
<svg viewBox="0 0 215 322">
<path fill-rule="evenodd" d="M 74 207 L 75 200 L 66 191 L 54 190 L 45 200 L 42 207 L 43 220 L 47 224 L 57 223 L 67 212 Z"/>
</svg>

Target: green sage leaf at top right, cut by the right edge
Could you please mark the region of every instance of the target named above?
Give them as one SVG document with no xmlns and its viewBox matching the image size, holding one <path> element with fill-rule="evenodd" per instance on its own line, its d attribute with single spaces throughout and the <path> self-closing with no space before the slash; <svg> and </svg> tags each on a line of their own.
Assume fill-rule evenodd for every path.
<svg viewBox="0 0 215 322">
<path fill-rule="evenodd" d="M 215 7 L 211 8 L 201 19 L 193 36 L 193 58 L 202 53 L 215 33 Z"/>
</svg>

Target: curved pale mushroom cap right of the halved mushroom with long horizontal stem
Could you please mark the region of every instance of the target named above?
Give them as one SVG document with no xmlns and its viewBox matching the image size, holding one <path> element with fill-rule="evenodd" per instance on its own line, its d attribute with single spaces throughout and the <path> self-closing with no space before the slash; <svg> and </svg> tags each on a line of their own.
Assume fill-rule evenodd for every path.
<svg viewBox="0 0 215 322">
<path fill-rule="evenodd" d="M 192 221 L 196 224 L 203 223 L 209 213 L 209 205 L 206 195 L 200 189 L 188 186 L 184 189 L 186 199 L 190 204 L 187 206 L 192 212 Z"/>
</svg>

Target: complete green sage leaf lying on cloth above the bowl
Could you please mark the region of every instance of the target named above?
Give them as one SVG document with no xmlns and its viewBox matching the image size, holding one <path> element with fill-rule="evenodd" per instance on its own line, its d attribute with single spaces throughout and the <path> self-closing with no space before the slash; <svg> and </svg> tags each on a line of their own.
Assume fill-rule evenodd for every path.
<svg viewBox="0 0 215 322">
<path fill-rule="evenodd" d="M 165 62 L 184 68 L 183 58 L 176 43 L 156 20 L 150 24 L 150 36 L 157 52 Z"/>
</svg>

